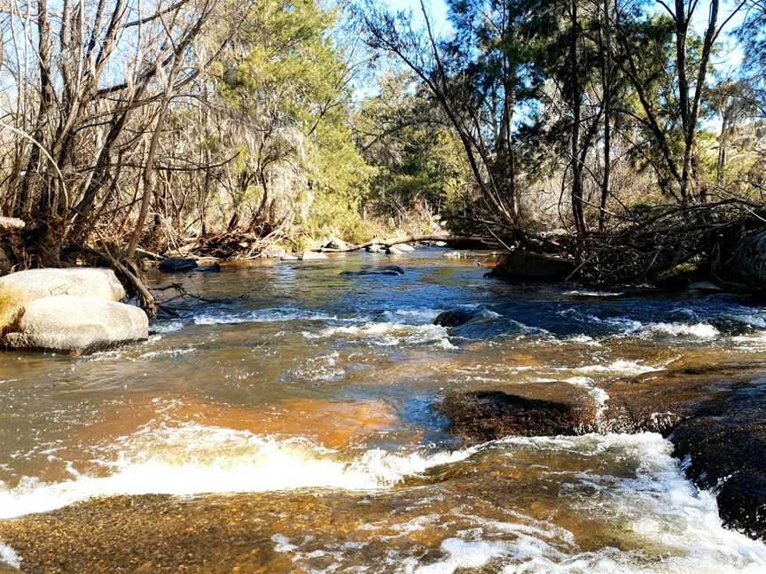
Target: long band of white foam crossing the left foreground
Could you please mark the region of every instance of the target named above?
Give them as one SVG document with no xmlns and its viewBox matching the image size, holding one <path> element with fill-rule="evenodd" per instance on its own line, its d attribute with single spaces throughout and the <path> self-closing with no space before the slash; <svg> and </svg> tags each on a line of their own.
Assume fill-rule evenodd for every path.
<svg viewBox="0 0 766 574">
<path fill-rule="evenodd" d="M 75 475 L 60 483 L 24 478 L 0 485 L 0 519 L 62 508 L 96 496 L 252 493 L 297 488 L 377 490 L 440 464 L 453 453 L 395 453 L 371 449 L 351 460 L 302 438 L 276 438 L 187 424 L 145 429 L 113 446 L 102 462 L 108 476 Z"/>
</svg>

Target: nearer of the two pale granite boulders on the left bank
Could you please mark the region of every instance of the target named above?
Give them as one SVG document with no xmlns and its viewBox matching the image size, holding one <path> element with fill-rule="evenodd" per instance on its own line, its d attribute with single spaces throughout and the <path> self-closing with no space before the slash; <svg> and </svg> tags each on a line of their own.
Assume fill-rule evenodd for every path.
<svg viewBox="0 0 766 574">
<path fill-rule="evenodd" d="M 20 349 L 87 353 L 147 337 L 148 318 L 136 306 L 58 295 L 25 305 L 3 343 Z"/>
</svg>

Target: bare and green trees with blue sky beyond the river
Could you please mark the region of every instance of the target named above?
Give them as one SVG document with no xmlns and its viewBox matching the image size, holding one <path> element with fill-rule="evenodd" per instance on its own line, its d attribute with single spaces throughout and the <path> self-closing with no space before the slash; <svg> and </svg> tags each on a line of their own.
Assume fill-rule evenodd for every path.
<svg viewBox="0 0 766 574">
<path fill-rule="evenodd" d="M 762 221 L 764 31 L 762 0 L 4 0 L 0 249 L 449 232 L 601 276 L 630 237 L 656 275 Z"/>
</svg>

